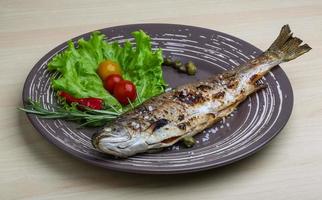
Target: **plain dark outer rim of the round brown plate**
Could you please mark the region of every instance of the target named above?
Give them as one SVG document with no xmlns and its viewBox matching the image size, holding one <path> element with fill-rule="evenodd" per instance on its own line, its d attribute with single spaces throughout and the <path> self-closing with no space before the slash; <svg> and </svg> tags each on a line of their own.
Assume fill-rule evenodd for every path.
<svg viewBox="0 0 322 200">
<path fill-rule="evenodd" d="M 105 28 L 101 28 L 101 29 L 96 29 L 93 31 L 89 31 L 83 34 L 80 34 L 76 37 L 73 37 L 63 43 L 60 43 L 59 45 L 57 45 L 56 47 L 54 47 L 53 49 L 51 49 L 49 52 L 47 52 L 45 55 L 43 55 L 37 62 L 36 64 L 33 65 L 33 67 L 31 68 L 30 72 L 28 73 L 26 80 L 24 82 L 23 85 L 23 91 L 22 91 L 22 102 L 23 105 L 26 106 L 27 102 L 25 101 L 26 98 L 28 97 L 27 91 L 29 89 L 28 84 L 31 81 L 31 77 L 33 77 L 33 72 L 36 71 L 39 66 L 41 66 L 41 64 L 43 64 L 47 59 L 48 56 L 53 55 L 54 53 L 57 53 L 58 51 L 61 51 L 63 49 L 64 46 L 67 45 L 68 41 L 77 41 L 78 39 L 85 37 L 87 35 L 89 35 L 90 33 L 94 32 L 94 31 L 103 31 L 105 29 L 115 29 L 115 28 L 123 28 L 123 27 L 128 27 L 128 26 L 162 26 L 162 25 L 170 25 L 170 26 L 182 26 L 185 28 L 197 28 L 197 29 L 203 29 L 205 31 L 215 31 L 217 33 L 220 33 L 224 36 L 229 36 L 230 38 L 233 39 L 237 39 L 239 41 L 244 42 L 245 44 L 252 46 L 254 49 L 256 49 L 256 51 L 258 51 L 259 53 L 262 53 L 263 51 L 260 50 L 259 48 L 255 47 L 254 45 L 250 44 L 249 42 L 237 38 L 233 35 L 227 34 L 227 33 L 223 33 L 221 31 L 217 31 L 217 30 L 213 30 L 213 29 L 209 29 L 209 28 L 204 28 L 204 27 L 199 27 L 199 26 L 191 26 L 191 25 L 184 25 L 184 24 L 172 24 L 172 23 L 137 23 L 137 24 L 124 24 L 124 25 L 117 25 L 117 26 L 110 26 L 110 27 L 105 27 Z M 255 147 L 253 148 L 249 148 L 248 151 L 246 151 L 243 154 L 238 154 L 233 158 L 230 158 L 228 160 L 225 160 L 221 163 L 211 163 L 211 162 L 207 162 L 207 165 L 198 165 L 198 166 L 185 166 L 183 168 L 180 169 L 170 169 L 167 170 L 168 168 L 164 168 L 164 169 L 153 169 L 153 168 L 140 168 L 140 167 L 133 167 L 133 166 L 123 166 L 123 165 L 118 165 L 118 166 L 114 166 L 113 165 L 106 165 L 106 163 L 101 163 L 101 162 L 97 162 L 93 159 L 87 159 L 87 155 L 85 154 L 79 154 L 77 153 L 74 149 L 71 148 L 67 148 L 65 145 L 63 145 L 62 143 L 57 142 L 57 140 L 54 139 L 54 137 L 48 137 L 47 134 L 44 134 L 40 128 L 40 124 L 36 121 L 37 116 L 34 116 L 32 114 L 26 114 L 30 123 L 33 125 L 33 127 L 36 129 L 36 131 L 42 135 L 49 143 L 54 144 L 56 147 L 58 147 L 58 149 L 63 150 L 64 152 L 68 153 L 68 155 L 70 155 L 71 157 L 77 158 L 79 160 L 83 160 L 87 163 L 93 164 L 95 166 L 99 166 L 99 167 L 103 167 L 105 169 L 111 169 L 111 170 L 115 170 L 115 171 L 121 171 L 121 172 L 127 172 L 127 173 L 137 173 L 137 174 L 183 174 L 183 173 L 192 173 L 192 172 L 199 172 L 199 171 L 204 171 L 204 170 L 209 170 L 209 169 L 214 169 L 214 168 L 218 168 L 218 167 L 222 167 L 225 165 L 229 165 L 232 164 L 234 162 L 240 161 L 244 158 L 247 158 L 253 154 L 255 154 L 256 152 L 262 150 L 271 140 L 273 140 L 280 132 L 281 130 L 286 126 L 287 122 L 290 119 L 290 116 L 292 114 L 293 111 L 293 106 L 294 106 L 294 94 L 293 94 L 293 88 L 292 85 L 289 81 L 289 78 L 287 77 L 286 73 L 284 72 L 284 70 L 278 65 L 278 68 L 280 68 L 280 70 L 282 71 L 282 73 L 284 73 L 283 75 L 285 76 L 285 82 L 287 83 L 288 87 L 289 87 L 289 93 L 288 93 L 288 103 L 289 103 L 289 110 L 287 113 L 283 113 L 283 118 L 285 118 L 283 123 L 280 123 L 280 126 L 271 134 L 266 133 L 265 135 L 270 135 L 270 137 L 266 138 L 264 141 L 261 141 L 259 144 L 257 144 Z M 275 122 L 276 124 L 276 122 Z M 274 125 L 276 126 L 276 125 Z M 253 143 L 251 145 L 254 145 L 256 143 Z"/>
</svg>

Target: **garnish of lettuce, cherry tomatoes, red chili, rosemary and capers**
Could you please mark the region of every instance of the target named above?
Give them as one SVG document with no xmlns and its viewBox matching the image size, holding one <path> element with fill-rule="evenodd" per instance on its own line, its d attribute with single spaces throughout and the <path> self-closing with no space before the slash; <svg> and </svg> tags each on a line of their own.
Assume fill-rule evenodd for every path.
<svg viewBox="0 0 322 200">
<path fill-rule="evenodd" d="M 162 65 L 189 75 L 196 66 L 188 62 L 163 59 L 162 50 L 152 50 L 151 38 L 142 30 L 132 33 L 135 43 L 109 43 L 106 36 L 93 32 L 88 39 L 68 42 L 68 48 L 48 63 L 58 72 L 51 84 L 58 106 L 45 109 L 41 102 L 29 100 L 21 110 L 42 118 L 61 118 L 82 125 L 101 126 L 145 100 L 163 93 L 166 83 Z"/>
</svg>

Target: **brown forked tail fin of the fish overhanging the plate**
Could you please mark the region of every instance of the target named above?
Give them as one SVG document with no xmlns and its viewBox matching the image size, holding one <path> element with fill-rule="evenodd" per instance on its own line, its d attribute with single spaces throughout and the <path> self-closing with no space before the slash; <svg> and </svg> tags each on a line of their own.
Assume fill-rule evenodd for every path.
<svg viewBox="0 0 322 200">
<path fill-rule="evenodd" d="M 287 62 L 312 49 L 308 44 L 301 45 L 302 42 L 301 39 L 293 37 L 289 25 L 286 24 L 282 27 L 280 34 L 265 53 L 277 55 L 282 61 Z"/>
</svg>

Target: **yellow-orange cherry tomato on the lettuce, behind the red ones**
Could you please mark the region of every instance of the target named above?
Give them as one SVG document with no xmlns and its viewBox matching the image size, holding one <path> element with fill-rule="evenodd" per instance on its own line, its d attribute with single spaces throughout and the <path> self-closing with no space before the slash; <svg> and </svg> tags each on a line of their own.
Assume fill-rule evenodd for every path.
<svg viewBox="0 0 322 200">
<path fill-rule="evenodd" d="M 121 75 L 120 65 L 112 60 L 104 60 L 97 69 L 98 75 L 104 81 L 111 74 Z"/>
</svg>

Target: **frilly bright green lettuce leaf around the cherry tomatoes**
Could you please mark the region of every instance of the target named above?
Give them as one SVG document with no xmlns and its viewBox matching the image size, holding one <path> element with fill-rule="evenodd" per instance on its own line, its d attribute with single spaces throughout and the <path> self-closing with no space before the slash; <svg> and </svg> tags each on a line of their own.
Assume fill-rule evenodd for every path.
<svg viewBox="0 0 322 200">
<path fill-rule="evenodd" d="M 135 45 L 129 41 L 123 45 L 108 43 L 100 32 L 93 32 L 88 40 L 78 40 L 77 47 L 70 41 L 68 48 L 48 63 L 49 70 L 60 72 L 57 79 L 52 79 L 54 90 L 66 91 L 77 98 L 101 98 L 106 105 L 121 109 L 96 73 L 100 62 L 111 59 L 120 64 L 123 78 L 136 85 L 139 98 L 134 105 L 164 92 L 161 49 L 153 51 L 151 38 L 142 30 L 132 35 Z"/>
</svg>

